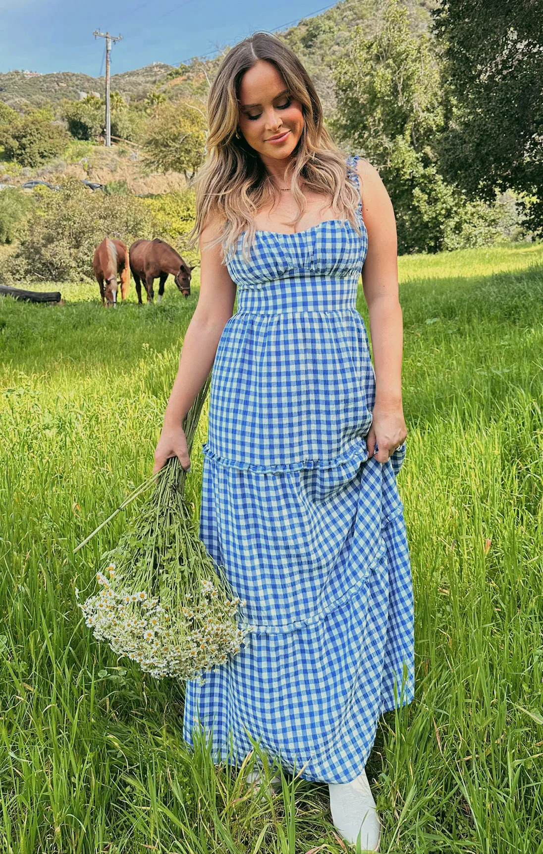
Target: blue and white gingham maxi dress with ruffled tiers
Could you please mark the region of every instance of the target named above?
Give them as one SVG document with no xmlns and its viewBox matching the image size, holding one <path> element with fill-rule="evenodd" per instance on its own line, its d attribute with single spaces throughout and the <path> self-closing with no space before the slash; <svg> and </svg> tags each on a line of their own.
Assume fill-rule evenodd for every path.
<svg viewBox="0 0 543 854">
<path fill-rule="evenodd" d="M 215 762 L 241 763 L 250 733 L 285 771 L 332 783 L 359 775 L 379 716 L 414 693 L 406 445 L 368 459 L 357 216 L 361 235 L 342 219 L 257 231 L 249 261 L 241 237 L 227 260 L 238 308 L 213 363 L 200 536 L 256 630 L 186 681 L 184 705 L 184 739 L 204 728 Z"/>
</svg>

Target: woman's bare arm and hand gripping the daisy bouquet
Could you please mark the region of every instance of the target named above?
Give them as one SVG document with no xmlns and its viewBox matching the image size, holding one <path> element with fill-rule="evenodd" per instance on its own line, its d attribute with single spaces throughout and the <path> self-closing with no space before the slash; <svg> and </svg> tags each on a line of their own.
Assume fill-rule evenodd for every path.
<svg viewBox="0 0 543 854">
<path fill-rule="evenodd" d="M 213 367 L 219 339 L 236 300 L 236 284 L 220 260 L 220 246 L 206 249 L 217 233 L 210 223 L 201 232 L 200 295 L 184 336 L 178 373 L 166 406 L 161 437 L 155 450 L 155 469 L 159 471 L 170 457 L 177 456 L 184 469 L 190 469 L 187 443 L 181 425 Z"/>
</svg>

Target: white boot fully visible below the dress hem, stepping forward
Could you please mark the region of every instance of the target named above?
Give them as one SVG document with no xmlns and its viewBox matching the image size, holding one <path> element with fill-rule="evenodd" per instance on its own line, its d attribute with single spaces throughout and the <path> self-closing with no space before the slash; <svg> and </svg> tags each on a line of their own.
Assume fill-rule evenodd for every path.
<svg viewBox="0 0 543 854">
<path fill-rule="evenodd" d="M 329 783 L 328 788 L 332 822 L 343 839 L 356 845 L 360 835 L 362 851 L 379 851 L 381 822 L 365 770 L 350 783 Z"/>
</svg>

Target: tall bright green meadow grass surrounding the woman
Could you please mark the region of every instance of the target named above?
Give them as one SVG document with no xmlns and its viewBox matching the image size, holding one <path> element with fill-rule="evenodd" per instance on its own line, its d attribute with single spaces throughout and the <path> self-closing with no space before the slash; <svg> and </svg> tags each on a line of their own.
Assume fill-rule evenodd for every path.
<svg viewBox="0 0 543 854">
<path fill-rule="evenodd" d="M 368 765 L 381 851 L 537 854 L 543 244 L 401 258 L 400 279 L 417 672 Z M 153 307 L 132 284 L 116 311 L 97 285 L 61 291 L 0 300 L 0 850 L 339 854 L 325 784 L 286 775 L 259 804 L 187 750 L 183 686 L 117 663 L 79 619 L 74 584 L 126 517 L 73 547 L 149 475 L 198 283 Z"/>
</svg>

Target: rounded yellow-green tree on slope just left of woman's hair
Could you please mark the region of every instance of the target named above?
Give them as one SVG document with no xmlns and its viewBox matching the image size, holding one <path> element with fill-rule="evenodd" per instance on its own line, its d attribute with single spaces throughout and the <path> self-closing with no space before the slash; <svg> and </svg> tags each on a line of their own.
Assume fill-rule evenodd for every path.
<svg viewBox="0 0 543 854">
<path fill-rule="evenodd" d="M 143 139 L 144 166 L 155 172 L 171 170 L 192 177 L 204 158 L 206 131 L 206 115 L 200 104 L 159 104 Z"/>
</svg>

